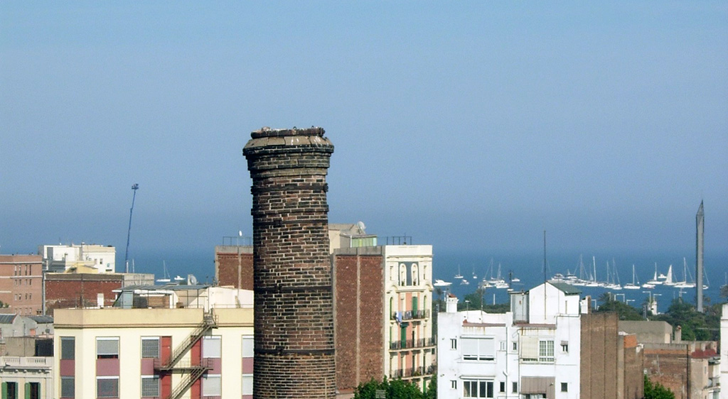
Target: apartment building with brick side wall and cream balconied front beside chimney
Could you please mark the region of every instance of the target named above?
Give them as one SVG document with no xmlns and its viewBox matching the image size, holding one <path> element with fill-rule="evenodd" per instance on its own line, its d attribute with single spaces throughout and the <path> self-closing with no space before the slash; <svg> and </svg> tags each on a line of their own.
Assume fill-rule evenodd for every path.
<svg viewBox="0 0 728 399">
<path fill-rule="evenodd" d="M 432 246 L 333 249 L 332 265 L 339 392 L 382 376 L 426 388 L 436 364 Z"/>
</svg>

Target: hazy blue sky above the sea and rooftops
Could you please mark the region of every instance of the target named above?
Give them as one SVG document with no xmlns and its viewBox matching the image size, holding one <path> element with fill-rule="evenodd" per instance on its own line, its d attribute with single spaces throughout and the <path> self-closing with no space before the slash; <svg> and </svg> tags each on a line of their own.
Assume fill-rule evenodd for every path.
<svg viewBox="0 0 728 399">
<path fill-rule="evenodd" d="M 323 126 L 331 222 L 436 251 L 728 252 L 728 3 L 0 2 L 0 252 L 250 235 Z"/>
</svg>

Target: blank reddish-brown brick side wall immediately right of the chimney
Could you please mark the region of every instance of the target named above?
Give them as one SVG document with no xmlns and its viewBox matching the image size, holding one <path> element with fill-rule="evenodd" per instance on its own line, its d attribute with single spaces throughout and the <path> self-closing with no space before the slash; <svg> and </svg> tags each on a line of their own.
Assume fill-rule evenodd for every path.
<svg viewBox="0 0 728 399">
<path fill-rule="evenodd" d="M 352 392 L 384 375 L 384 270 L 381 255 L 334 255 L 336 387 Z"/>
</svg>

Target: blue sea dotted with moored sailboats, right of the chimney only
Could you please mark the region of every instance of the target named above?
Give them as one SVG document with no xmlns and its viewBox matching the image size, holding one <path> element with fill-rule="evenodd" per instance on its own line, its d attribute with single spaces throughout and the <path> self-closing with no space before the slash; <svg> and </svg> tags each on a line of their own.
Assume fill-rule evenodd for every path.
<svg viewBox="0 0 728 399">
<path fill-rule="evenodd" d="M 585 270 L 593 273 L 594 264 L 596 263 L 596 276 L 598 281 L 605 281 L 607 262 L 609 269 L 616 269 L 617 273 L 612 275 L 612 279 L 619 278 L 622 286 L 625 283 L 632 282 L 632 265 L 635 265 L 636 283 L 644 283 L 654 276 L 654 267 L 657 263 L 657 273 L 667 273 L 668 267 L 673 265 L 673 281 L 682 281 L 684 279 L 683 256 L 679 254 L 550 254 L 547 255 L 547 278 L 551 278 L 555 273 L 566 275 L 571 272 L 579 275 L 579 257 L 581 256 Z M 491 272 L 492 259 L 492 272 Z M 687 263 L 687 281 L 695 281 L 695 254 L 692 258 L 685 256 Z M 496 276 L 500 265 L 501 275 L 508 281 L 509 275 L 518 278 L 521 281 L 513 283 L 512 287 L 516 291 L 529 290 L 544 281 L 544 260 L 541 254 L 457 254 L 457 253 L 438 253 L 435 252 L 433 265 L 434 278 L 449 281 L 452 283 L 450 291 L 462 301 L 464 295 L 471 294 L 478 288 L 478 282 L 484 277 L 490 278 L 491 273 Z M 728 254 L 705 254 L 704 258 L 705 274 L 707 275 L 706 283 L 708 289 L 703 290 L 703 296 L 709 298 L 710 303 L 726 302 L 720 297 L 720 286 L 726 283 L 726 273 L 728 272 Z M 612 266 L 614 265 L 614 267 Z M 454 275 L 459 273 L 467 278 L 468 285 L 459 283 Z M 473 275 L 477 278 L 473 278 Z M 612 273 L 610 273 L 612 274 Z M 617 299 L 627 302 L 629 305 L 640 308 L 642 302 L 650 296 L 656 295 L 657 306 L 660 312 L 664 312 L 670 306 L 673 299 L 681 297 L 685 302 L 695 304 L 696 289 L 676 289 L 667 286 L 655 286 L 654 289 L 622 289 L 619 291 L 609 290 L 600 287 L 584 287 L 579 286 L 577 289 L 582 291 L 582 297 L 591 295 L 598 299 L 604 292 L 610 291 L 617 294 Z M 646 291 L 649 291 L 646 292 Z M 486 289 L 484 295 L 486 303 L 504 303 L 508 302 L 508 293 L 505 289 Z M 704 304 L 707 304 L 704 300 Z M 480 306 L 480 304 L 476 304 Z M 476 306 L 476 307 L 477 307 Z"/>
</svg>

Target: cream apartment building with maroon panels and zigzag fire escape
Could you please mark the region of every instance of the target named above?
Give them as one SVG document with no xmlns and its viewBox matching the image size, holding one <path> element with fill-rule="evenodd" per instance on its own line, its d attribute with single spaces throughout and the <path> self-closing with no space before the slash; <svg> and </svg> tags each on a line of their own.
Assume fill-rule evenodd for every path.
<svg viewBox="0 0 728 399">
<path fill-rule="evenodd" d="M 253 398 L 253 293 L 130 286 L 55 310 L 58 398 Z"/>
</svg>

